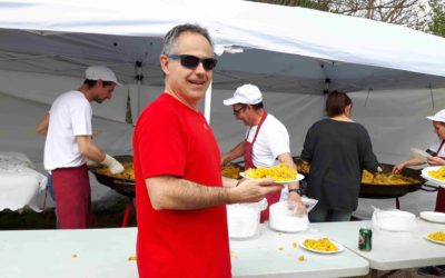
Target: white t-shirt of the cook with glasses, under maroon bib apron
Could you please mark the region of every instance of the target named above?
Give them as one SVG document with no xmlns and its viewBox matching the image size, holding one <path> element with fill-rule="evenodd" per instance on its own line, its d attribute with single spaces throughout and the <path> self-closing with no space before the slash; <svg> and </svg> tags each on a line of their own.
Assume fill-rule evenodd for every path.
<svg viewBox="0 0 445 278">
<path fill-rule="evenodd" d="M 258 126 L 247 129 L 247 141 L 254 140 Z M 249 131 L 250 130 L 250 131 Z M 253 161 L 256 167 L 273 167 L 279 163 L 278 156 L 289 152 L 289 133 L 286 127 L 268 113 L 259 129 L 253 147 Z"/>
</svg>

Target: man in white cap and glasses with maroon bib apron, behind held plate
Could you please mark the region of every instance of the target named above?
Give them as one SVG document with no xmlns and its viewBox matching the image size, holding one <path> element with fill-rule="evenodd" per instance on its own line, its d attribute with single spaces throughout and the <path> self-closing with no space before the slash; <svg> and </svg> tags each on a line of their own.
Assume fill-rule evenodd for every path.
<svg viewBox="0 0 445 278">
<path fill-rule="evenodd" d="M 255 85 L 238 87 L 233 98 L 224 100 L 225 106 L 231 106 L 234 116 L 247 127 L 245 139 L 230 151 L 221 156 L 221 165 L 244 157 L 245 170 L 257 167 L 273 167 L 283 162 L 291 169 L 297 169 L 290 155 L 289 133 L 286 127 L 264 109 L 263 93 Z M 297 211 L 306 212 L 301 202 L 299 183 L 289 185 L 283 192 L 267 196 L 268 207 L 283 199 L 289 199 Z M 260 221 L 269 219 L 269 208 L 261 211 Z"/>
</svg>

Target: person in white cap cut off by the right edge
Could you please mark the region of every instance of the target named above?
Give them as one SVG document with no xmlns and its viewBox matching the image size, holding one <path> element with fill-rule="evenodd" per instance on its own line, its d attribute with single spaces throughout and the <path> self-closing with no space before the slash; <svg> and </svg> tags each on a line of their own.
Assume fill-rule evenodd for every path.
<svg viewBox="0 0 445 278">
<path fill-rule="evenodd" d="M 445 109 L 426 118 L 433 121 L 434 133 L 437 135 L 437 140 L 426 150 L 426 152 L 431 155 L 426 158 L 426 162 L 431 166 L 445 166 Z M 403 168 L 408 166 L 418 166 L 424 163 L 425 160 L 421 157 L 413 157 L 396 165 L 393 169 L 393 173 L 398 173 Z M 435 211 L 445 212 L 445 189 L 443 187 L 438 187 L 437 189 Z M 421 267 L 417 269 L 417 272 L 423 276 L 445 277 L 445 265 Z"/>
</svg>

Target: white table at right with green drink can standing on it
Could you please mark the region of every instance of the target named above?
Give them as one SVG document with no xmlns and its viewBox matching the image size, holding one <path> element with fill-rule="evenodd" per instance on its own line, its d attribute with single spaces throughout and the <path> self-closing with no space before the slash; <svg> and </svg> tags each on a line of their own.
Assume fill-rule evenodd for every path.
<svg viewBox="0 0 445 278">
<path fill-rule="evenodd" d="M 370 221 L 324 222 L 312 225 L 318 231 L 340 242 L 369 261 L 375 270 L 393 270 L 445 265 L 445 245 L 424 239 L 424 235 L 445 230 L 445 225 L 416 219 L 418 229 L 413 234 L 373 230 L 373 249 L 358 249 L 359 228 L 370 228 Z"/>
</svg>

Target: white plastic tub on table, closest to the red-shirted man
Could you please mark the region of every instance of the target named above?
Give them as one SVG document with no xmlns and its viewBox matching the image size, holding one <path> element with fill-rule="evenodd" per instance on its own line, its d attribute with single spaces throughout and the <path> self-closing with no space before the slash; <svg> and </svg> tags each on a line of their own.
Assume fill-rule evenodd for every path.
<svg viewBox="0 0 445 278">
<path fill-rule="evenodd" d="M 251 238 L 258 234 L 259 217 L 267 208 L 267 200 L 227 205 L 229 238 Z"/>
</svg>

